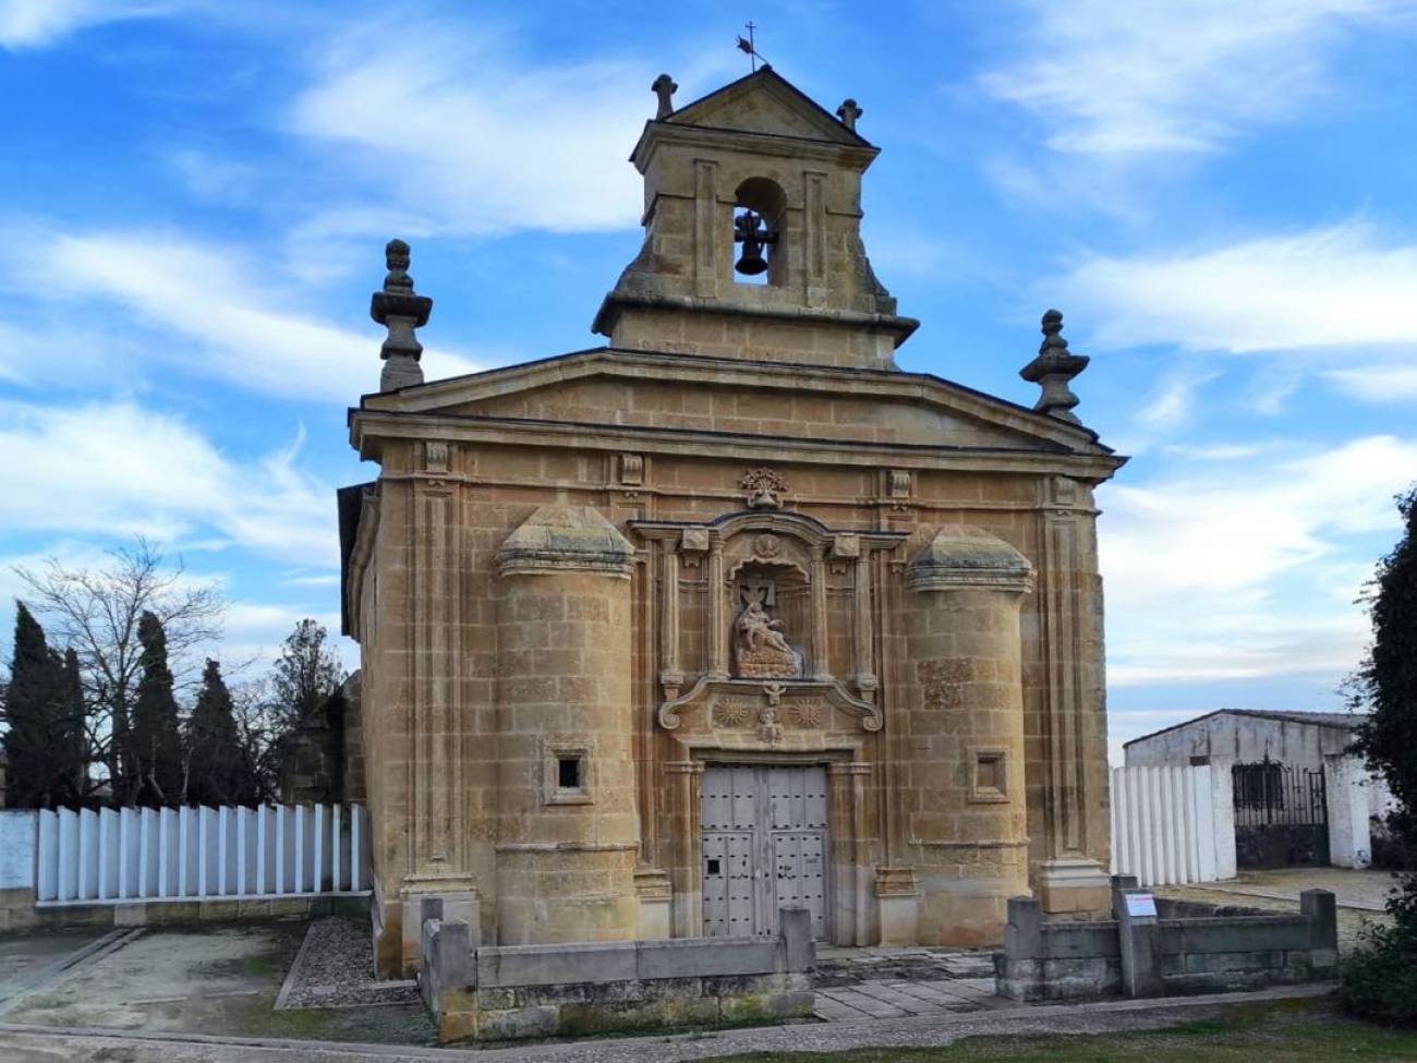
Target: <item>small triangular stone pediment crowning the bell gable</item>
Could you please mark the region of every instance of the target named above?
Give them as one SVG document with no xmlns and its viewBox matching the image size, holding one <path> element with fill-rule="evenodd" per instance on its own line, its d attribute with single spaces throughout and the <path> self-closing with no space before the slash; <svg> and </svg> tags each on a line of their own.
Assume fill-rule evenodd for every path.
<svg viewBox="0 0 1417 1063">
<path fill-rule="evenodd" d="M 686 103 L 663 120 L 669 125 L 869 146 L 867 140 L 769 67 Z"/>
</svg>

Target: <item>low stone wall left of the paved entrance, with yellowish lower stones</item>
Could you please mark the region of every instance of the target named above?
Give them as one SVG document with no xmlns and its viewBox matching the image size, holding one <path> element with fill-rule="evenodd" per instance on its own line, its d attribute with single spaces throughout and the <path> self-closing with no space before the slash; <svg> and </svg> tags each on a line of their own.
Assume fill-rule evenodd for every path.
<svg viewBox="0 0 1417 1063">
<path fill-rule="evenodd" d="M 441 1042 L 512 1040 L 812 1013 L 811 913 L 777 938 L 674 938 L 479 948 L 425 918 L 418 982 Z"/>
</svg>

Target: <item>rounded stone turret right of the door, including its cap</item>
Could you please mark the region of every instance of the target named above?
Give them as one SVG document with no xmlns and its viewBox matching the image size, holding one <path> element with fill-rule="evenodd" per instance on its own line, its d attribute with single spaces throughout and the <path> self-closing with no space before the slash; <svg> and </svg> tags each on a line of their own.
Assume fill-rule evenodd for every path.
<svg viewBox="0 0 1417 1063">
<path fill-rule="evenodd" d="M 900 740 L 921 944 L 1002 941 L 1029 893 L 1019 602 L 1033 568 L 978 529 L 945 529 L 905 570 L 913 696 Z"/>
</svg>

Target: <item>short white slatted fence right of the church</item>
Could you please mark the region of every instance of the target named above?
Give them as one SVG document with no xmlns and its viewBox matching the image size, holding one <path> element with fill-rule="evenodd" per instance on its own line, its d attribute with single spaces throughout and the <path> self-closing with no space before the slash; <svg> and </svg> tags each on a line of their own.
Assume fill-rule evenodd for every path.
<svg viewBox="0 0 1417 1063">
<path fill-rule="evenodd" d="M 1142 886 L 1182 886 L 1234 873 L 1230 772 L 1213 774 L 1210 765 L 1112 768 L 1112 874 L 1135 874 Z"/>
</svg>

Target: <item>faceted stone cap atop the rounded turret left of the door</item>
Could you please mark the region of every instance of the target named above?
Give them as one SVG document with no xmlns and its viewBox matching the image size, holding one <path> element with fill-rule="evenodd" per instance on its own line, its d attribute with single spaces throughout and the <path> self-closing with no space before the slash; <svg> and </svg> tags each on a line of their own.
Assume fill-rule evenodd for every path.
<svg viewBox="0 0 1417 1063">
<path fill-rule="evenodd" d="M 503 575 L 602 573 L 629 578 L 635 547 L 591 506 L 541 506 L 497 550 Z"/>
</svg>

